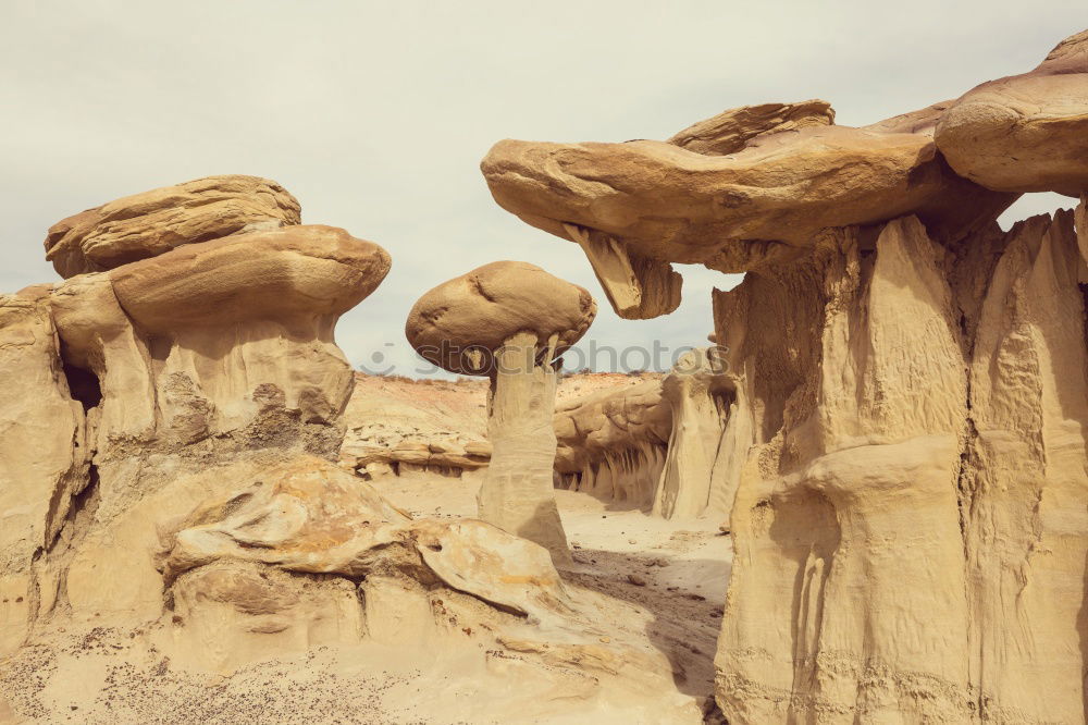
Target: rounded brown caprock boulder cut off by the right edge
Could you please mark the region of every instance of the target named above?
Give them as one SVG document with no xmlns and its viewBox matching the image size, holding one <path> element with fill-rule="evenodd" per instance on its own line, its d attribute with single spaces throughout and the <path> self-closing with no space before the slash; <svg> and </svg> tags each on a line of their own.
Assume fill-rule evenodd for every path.
<svg viewBox="0 0 1088 725">
<path fill-rule="evenodd" d="M 969 90 L 941 116 L 937 147 L 961 175 L 1002 192 L 1088 189 L 1088 30 L 1035 70 Z"/>
</svg>

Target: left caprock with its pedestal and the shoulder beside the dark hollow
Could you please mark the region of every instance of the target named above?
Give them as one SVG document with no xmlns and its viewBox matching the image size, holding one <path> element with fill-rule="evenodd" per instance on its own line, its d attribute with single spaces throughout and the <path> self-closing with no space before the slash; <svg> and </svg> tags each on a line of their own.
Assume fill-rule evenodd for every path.
<svg viewBox="0 0 1088 725">
<path fill-rule="evenodd" d="M 307 225 L 190 244 L 59 285 L 50 304 L 64 358 L 104 395 L 98 451 L 294 432 L 334 453 L 353 377 L 333 329 L 388 268 L 378 245 Z M 258 420 L 265 428 L 247 432 Z"/>
</svg>

